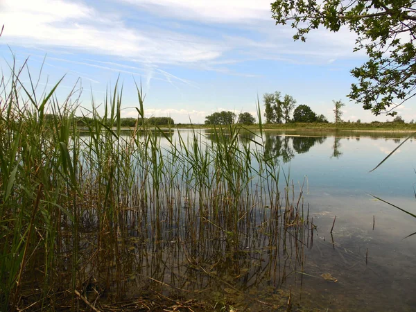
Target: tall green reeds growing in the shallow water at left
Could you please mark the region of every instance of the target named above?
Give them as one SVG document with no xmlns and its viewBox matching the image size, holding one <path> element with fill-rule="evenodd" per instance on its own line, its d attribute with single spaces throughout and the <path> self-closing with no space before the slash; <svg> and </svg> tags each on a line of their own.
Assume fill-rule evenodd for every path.
<svg viewBox="0 0 416 312">
<path fill-rule="evenodd" d="M 250 289 L 302 281 L 313 225 L 261 122 L 260 135 L 231 125 L 212 141 L 148 128 L 137 87 L 126 133 L 116 85 L 78 126 L 73 94 L 58 101 L 60 82 L 37 94 L 21 71 L 1 80 L 1 311 L 129 310 L 155 297 L 223 309 L 224 293 L 259 303 Z"/>
</svg>

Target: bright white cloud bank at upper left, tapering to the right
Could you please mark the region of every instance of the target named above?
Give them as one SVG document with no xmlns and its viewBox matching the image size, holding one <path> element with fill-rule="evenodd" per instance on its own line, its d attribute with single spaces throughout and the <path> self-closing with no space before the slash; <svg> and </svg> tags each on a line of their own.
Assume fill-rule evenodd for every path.
<svg viewBox="0 0 416 312">
<path fill-rule="evenodd" d="M 0 10 L 7 44 L 78 49 L 159 64 L 211 60 L 225 49 L 192 35 L 129 28 L 116 15 L 78 2 L 6 0 Z"/>
</svg>

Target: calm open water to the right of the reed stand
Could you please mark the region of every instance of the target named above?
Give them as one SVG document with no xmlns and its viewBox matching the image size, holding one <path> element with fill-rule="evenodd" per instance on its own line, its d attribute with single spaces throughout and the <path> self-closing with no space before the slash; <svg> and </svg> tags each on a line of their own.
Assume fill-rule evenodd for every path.
<svg viewBox="0 0 416 312">
<path fill-rule="evenodd" d="M 187 130 L 180 131 L 187 135 Z M 208 130 L 201 132 L 210 139 Z M 243 136 L 259 139 L 250 133 Z M 416 213 L 415 141 L 406 142 L 369 173 L 406 136 L 394 132 L 263 134 L 266 153 L 276 158 L 289 180 L 296 185 L 307 177 L 304 202 L 317 226 L 313 245 L 306 250 L 304 273 L 295 274 L 294 288 L 284 283 L 279 287 L 279 292 L 286 291 L 286 297 L 290 292 L 300 302 L 292 309 L 416 311 L 416 235 L 404 239 L 416 232 L 416 218 L 369 195 Z M 250 289 L 250 295 L 277 300 L 277 286 L 262 281 Z M 280 309 L 286 308 L 281 303 Z M 271 308 L 251 302 L 250 309 Z"/>
</svg>

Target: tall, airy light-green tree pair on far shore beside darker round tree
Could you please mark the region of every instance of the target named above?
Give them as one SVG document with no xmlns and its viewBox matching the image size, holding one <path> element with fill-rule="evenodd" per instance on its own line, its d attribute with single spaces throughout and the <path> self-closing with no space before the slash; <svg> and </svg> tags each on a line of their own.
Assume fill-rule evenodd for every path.
<svg viewBox="0 0 416 312">
<path fill-rule="evenodd" d="M 286 94 L 281 100 L 280 92 L 274 94 L 263 94 L 263 101 L 266 107 L 264 116 L 266 117 L 266 123 L 286 123 L 291 120 L 291 112 L 295 108 L 296 100 Z"/>
</svg>

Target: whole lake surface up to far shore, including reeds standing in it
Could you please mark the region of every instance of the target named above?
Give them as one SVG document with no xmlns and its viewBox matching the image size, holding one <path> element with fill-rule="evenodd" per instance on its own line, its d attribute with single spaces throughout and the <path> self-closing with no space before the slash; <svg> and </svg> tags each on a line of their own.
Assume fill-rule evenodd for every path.
<svg viewBox="0 0 416 312">
<path fill-rule="evenodd" d="M 94 125 L 4 137 L 2 306 L 415 311 L 408 134 Z"/>
</svg>

